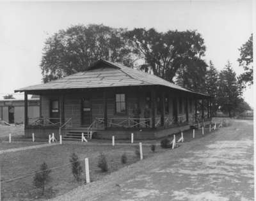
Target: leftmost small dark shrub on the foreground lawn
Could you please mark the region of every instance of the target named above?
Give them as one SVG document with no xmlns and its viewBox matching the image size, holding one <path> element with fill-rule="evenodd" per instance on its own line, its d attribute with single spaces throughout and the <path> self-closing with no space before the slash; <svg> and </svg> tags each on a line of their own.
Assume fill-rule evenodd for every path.
<svg viewBox="0 0 256 201">
<path fill-rule="evenodd" d="M 33 183 L 36 188 L 42 189 L 42 195 L 44 195 L 45 192 L 45 185 L 51 180 L 51 177 L 49 176 L 50 173 L 51 170 L 49 170 L 45 162 L 40 165 L 40 171 L 35 173 Z"/>
</svg>

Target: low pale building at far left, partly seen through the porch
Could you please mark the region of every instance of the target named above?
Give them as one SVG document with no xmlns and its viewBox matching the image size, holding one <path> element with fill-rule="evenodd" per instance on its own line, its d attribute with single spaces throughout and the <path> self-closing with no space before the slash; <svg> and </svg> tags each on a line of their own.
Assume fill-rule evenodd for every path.
<svg viewBox="0 0 256 201">
<path fill-rule="evenodd" d="M 38 118 L 40 108 L 39 98 L 28 99 L 28 117 Z M 7 123 L 24 123 L 24 100 L 4 99 L 0 100 L 0 118 Z"/>
</svg>

